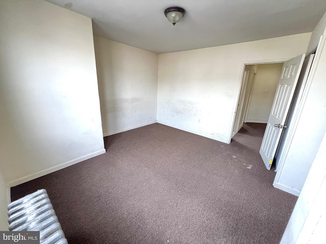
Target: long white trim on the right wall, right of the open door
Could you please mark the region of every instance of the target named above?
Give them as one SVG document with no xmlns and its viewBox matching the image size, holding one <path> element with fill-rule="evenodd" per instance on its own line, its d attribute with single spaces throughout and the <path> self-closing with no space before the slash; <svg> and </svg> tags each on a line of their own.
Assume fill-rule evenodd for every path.
<svg viewBox="0 0 326 244">
<path fill-rule="evenodd" d="M 302 95 L 301 96 L 299 95 L 298 101 L 297 101 L 297 103 L 295 105 L 293 115 L 292 115 L 291 126 L 289 127 L 289 131 L 288 131 L 287 136 L 286 136 L 286 138 L 284 140 L 282 153 L 279 156 L 279 169 L 278 169 L 278 171 L 276 173 L 276 176 L 275 176 L 275 179 L 274 179 L 274 182 L 273 182 L 273 186 L 276 186 L 276 185 L 279 184 L 279 180 L 280 180 L 280 177 L 281 177 L 281 174 L 282 174 L 282 170 L 283 170 L 283 167 L 285 165 L 285 160 L 287 158 L 287 155 L 288 155 L 288 152 L 289 152 L 292 140 L 293 140 L 293 136 L 294 136 L 295 130 L 297 128 L 297 124 L 298 124 L 298 122 L 300 120 L 300 115 L 301 115 L 302 110 L 303 110 L 303 108 L 305 106 L 305 102 L 306 102 L 306 99 L 307 99 L 307 96 L 308 96 L 308 93 L 309 93 L 309 89 L 310 89 L 312 80 L 314 78 L 314 75 L 315 75 L 315 72 L 316 72 L 316 69 L 317 69 L 318 61 L 320 59 L 322 49 L 325 46 L 325 41 L 326 41 L 326 36 L 321 36 L 320 40 L 319 40 L 317 50 L 316 50 L 316 54 L 314 56 L 314 60 L 312 62 L 312 66 L 310 68 L 309 76 L 307 77 L 307 81 L 306 81 L 305 87 L 304 87 L 303 92 L 302 92 Z"/>
</svg>

